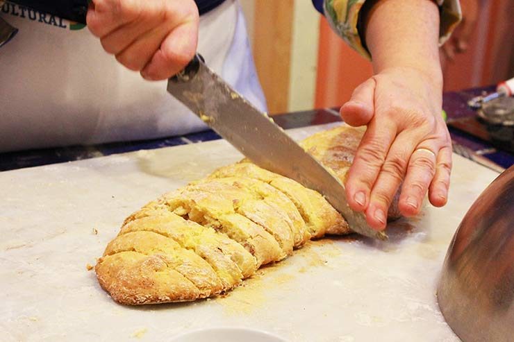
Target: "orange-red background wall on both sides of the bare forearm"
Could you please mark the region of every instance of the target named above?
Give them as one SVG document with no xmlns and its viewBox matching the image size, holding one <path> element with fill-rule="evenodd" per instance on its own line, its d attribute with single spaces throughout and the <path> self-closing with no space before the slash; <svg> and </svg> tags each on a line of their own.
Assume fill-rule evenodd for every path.
<svg viewBox="0 0 514 342">
<path fill-rule="evenodd" d="M 495 84 L 514 76 L 514 0 L 478 1 L 479 18 L 469 48 L 445 66 L 445 91 Z M 322 19 L 315 107 L 342 105 L 371 75 L 370 63 Z"/>
</svg>

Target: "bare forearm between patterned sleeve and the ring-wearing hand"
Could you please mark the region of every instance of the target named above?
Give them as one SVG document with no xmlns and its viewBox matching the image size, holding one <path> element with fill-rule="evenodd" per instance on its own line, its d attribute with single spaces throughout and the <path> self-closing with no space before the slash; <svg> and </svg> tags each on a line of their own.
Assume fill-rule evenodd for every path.
<svg viewBox="0 0 514 342">
<path fill-rule="evenodd" d="M 436 3 L 431 0 L 373 2 L 362 19 L 375 73 L 392 67 L 414 68 L 442 87 Z"/>
</svg>

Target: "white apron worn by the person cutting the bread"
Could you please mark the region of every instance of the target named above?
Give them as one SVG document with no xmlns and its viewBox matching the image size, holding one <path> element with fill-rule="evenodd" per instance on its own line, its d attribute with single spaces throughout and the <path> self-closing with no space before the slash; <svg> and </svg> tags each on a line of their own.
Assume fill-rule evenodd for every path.
<svg viewBox="0 0 514 342">
<path fill-rule="evenodd" d="M 166 92 L 119 65 L 87 28 L 5 3 L 19 28 L 0 48 L 0 152 L 181 135 L 206 128 Z M 235 0 L 201 16 L 207 65 L 261 110 L 265 100 Z"/>
</svg>

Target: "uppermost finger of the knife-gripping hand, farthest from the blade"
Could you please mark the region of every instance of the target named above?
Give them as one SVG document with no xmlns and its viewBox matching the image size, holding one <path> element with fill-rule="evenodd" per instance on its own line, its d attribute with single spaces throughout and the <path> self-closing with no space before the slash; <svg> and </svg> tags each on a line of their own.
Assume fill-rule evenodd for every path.
<svg viewBox="0 0 514 342">
<path fill-rule="evenodd" d="M 141 17 L 143 3 L 144 1 L 94 0 L 85 17 L 88 29 L 96 37 L 104 37 Z"/>
</svg>

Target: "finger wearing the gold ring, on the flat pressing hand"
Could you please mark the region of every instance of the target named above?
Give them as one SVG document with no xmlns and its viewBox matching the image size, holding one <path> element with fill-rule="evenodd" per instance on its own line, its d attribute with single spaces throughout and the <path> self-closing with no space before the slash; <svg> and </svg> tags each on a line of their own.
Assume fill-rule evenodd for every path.
<svg viewBox="0 0 514 342">
<path fill-rule="evenodd" d="M 436 144 L 421 144 L 409 160 L 404 185 L 401 187 L 399 209 L 404 216 L 415 216 L 436 173 Z"/>
</svg>

